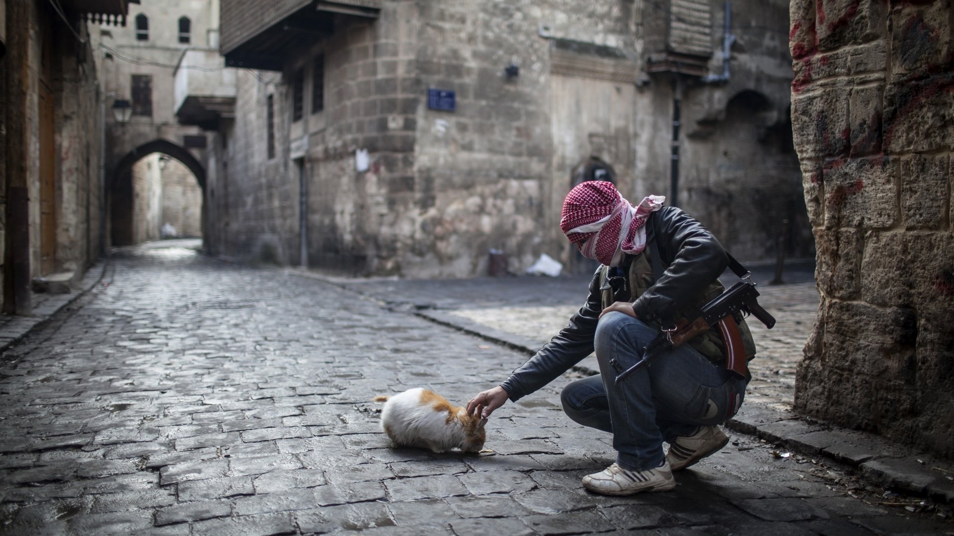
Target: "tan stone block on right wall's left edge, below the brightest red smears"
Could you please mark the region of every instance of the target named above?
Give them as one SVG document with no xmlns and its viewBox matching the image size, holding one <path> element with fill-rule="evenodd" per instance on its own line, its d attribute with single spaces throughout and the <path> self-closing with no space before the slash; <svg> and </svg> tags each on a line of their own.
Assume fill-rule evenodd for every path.
<svg viewBox="0 0 954 536">
<path fill-rule="evenodd" d="M 794 95 L 792 131 L 798 157 L 841 155 L 848 150 L 848 91 L 845 86 Z"/>
</svg>

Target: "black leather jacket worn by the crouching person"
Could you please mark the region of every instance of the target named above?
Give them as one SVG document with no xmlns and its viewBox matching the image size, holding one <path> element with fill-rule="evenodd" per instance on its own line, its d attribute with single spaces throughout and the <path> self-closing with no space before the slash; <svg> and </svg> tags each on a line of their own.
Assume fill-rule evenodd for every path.
<svg viewBox="0 0 954 536">
<path fill-rule="evenodd" d="M 666 270 L 633 303 L 636 315 L 644 321 L 672 317 L 694 303 L 729 263 L 716 237 L 692 216 L 675 207 L 663 207 L 651 217 L 647 242 L 655 240 L 653 252 L 658 252 Z M 597 270 L 590 281 L 590 296 L 570 324 L 501 383 L 511 401 L 550 383 L 592 353 L 593 334 L 603 309 L 599 276 Z"/>
</svg>

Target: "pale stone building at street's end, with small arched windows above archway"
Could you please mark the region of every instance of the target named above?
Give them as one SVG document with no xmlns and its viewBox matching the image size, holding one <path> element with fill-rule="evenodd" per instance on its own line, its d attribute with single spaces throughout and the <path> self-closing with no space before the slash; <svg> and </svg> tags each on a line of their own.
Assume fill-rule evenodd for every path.
<svg viewBox="0 0 954 536">
<path fill-rule="evenodd" d="M 176 208 L 177 217 L 196 214 L 200 221 L 208 139 L 195 92 L 229 71 L 217 52 L 218 1 L 153 0 L 133 6 L 125 26 L 101 25 L 94 33 L 110 105 L 132 107 L 128 121 L 106 121 L 109 243 L 161 237 L 163 225 L 172 225 L 163 220 L 163 204 L 172 210 L 191 203 Z M 191 179 L 177 175 L 183 169 Z"/>
</svg>

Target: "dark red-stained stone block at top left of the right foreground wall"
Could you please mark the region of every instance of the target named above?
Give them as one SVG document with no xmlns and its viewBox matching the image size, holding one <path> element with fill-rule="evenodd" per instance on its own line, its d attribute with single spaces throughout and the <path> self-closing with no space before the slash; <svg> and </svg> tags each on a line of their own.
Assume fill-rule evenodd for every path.
<svg viewBox="0 0 954 536">
<path fill-rule="evenodd" d="M 884 32 L 882 0 L 819 0 L 816 5 L 820 51 L 873 41 Z"/>
</svg>

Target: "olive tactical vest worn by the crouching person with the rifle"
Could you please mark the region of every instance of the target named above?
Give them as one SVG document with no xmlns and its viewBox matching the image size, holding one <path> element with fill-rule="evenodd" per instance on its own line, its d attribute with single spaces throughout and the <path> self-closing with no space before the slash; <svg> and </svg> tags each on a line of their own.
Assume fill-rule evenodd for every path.
<svg viewBox="0 0 954 536">
<path fill-rule="evenodd" d="M 630 263 L 627 276 L 629 286 L 628 294 L 624 289 L 613 291 L 612 284 L 610 283 L 611 269 L 605 265 L 602 267 L 600 272 L 600 292 L 604 309 L 609 307 L 614 301 L 629 301 L 632 303 L 642 296 L 642 294 L 646 292 L 646 289 L 653 286 L 655 278 L 653 277 L 653 264 L 650 260 L 650 255 L 650 248 L 647 247 L 639 255 L 629 256 L 632 262 Z M 723 292 L 725 292 L 725 287 L 716 279 L 709 285 L 703 296 L 696 303 L 692 304 L 691 308 L 699 309 L 702 305 L 715 299 L 716 296 Z M 685 320 L 685 316 L 677 314 L 672 320 L 674 323 Z M 742 345 L 745 347 L 745 359 L 746 361 L 752 361 L 752 358 L 756 356 L 756 342 L 752 339 L 752 332 L 749 331 L 749 326 L 746 325 L 745 320 L 740 316 L 736 316 L 736 322 L 738 322 L 738 331 L 742 338 Z M 653 324 L 656 327 L 662 327 L 658 323 L 653 322 Z M 702 335 L 689 340 L 689 344 L 709 361 L 720 365 L 725 364 L 725 355 L 723 354 L 724 343 L 722 342 L 722 336 L 719 334 L 718 324 L 712 326 L 709 331 Z"/>
</svg>

